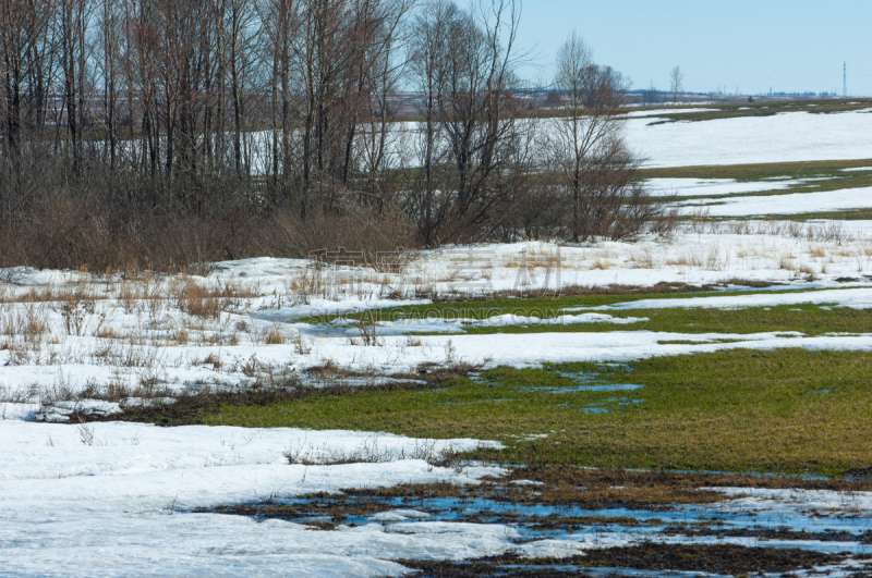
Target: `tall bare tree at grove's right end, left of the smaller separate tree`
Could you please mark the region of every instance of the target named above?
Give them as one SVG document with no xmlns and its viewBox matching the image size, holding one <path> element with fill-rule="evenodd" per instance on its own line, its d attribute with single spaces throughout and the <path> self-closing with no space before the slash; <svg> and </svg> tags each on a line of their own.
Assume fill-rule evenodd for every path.
<svg viewBox="0 0 872 578">
<path fill-rule="evenodd" d="M 481 0 L 470 11 L 434 1 L 415 22 L 424 168 L 410 210 L 425 243 L 481 235 L 506 200 L 502 184 L 522 138 L 513 53 L 520 11 L 516 0 Z"/>
</svg>

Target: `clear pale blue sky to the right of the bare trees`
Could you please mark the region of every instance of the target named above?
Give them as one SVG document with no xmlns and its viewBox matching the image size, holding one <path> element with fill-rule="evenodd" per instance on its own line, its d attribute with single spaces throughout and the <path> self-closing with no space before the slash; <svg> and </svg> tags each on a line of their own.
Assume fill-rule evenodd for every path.
<svg viewBox="0 0 872 578">
<path fill-rule="evenodd" d="M 524 0 L 524 76 L 548 78 L 573 28 L 633 88 L 668 89 L 678 64 L 687 90 L 841 94 L 846 60 L 848 94 L 872 95 L 872 0 Z"/>
</svg>

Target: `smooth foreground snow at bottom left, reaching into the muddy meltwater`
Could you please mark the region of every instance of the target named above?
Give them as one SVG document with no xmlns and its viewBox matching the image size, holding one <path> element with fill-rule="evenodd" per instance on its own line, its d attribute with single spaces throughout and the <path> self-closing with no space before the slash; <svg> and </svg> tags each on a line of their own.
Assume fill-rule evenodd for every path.
<svg viewBox="0 0 872 578">
<path fill-rule="evenodd" d="M 85 443 L 83 439 L 90 441 Z M 397 508 L 352 527 L 312 529 L 283 520 L 254 520 L 197 508 L 269 496 L 389 487 L 399 483 L 475 484 L 500 476 L 495 467 L 459 469 L 423 459 L 374 464 L 289 465 L 294 444 L 330 454 L 413 452 L 433 443 L 342 431 L 93 423 L 63 427 L 0 421 L 0 564 L 4 576 L 131 576 L 160 569 L 173 576 L 293 575 L 399 576 L 391 559 L 470 559 L 514 553 L 564 557 L 589 549 L 664 543 L 725 543 L 667 537 L 646 529 L 591 529 L 561 538 L 522 537 L 510 525 L 428 520 L 427 513 Z M 447 440 L 438 446 L 470 448 L 480 442 Z M 857 532 L 872 513 L 872 493 L 718 489 L 736 500 L 675 513 L 642 513 L 667 520 L 719 516 L 730 525 L 778 525 Z M 819 519 L 815 512 L 848 515 Z M 620 514 L 618 512 L 617 514 Z M 617 515 L 606 514 L 606 515 Z M 860 519 L 858 519 L 858 517 Z M 752 538 L 744 546 L 773 545 Z M 853 542 L 792 540 L 779 548 L 864 553 Z"/>
</svg>

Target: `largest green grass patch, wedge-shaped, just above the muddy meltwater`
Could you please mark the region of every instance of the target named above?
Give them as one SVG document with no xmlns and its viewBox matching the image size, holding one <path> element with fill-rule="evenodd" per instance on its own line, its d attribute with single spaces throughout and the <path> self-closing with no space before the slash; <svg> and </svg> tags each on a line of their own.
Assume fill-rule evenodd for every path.
<svg viewBox="0 0 872 578">
<path fill-rule="evenodd" d="M 209 425 L 500 440 L 517 464 L 845 475 L 872 465 L 872 353 L 723 351 L 501 367 L 439 390 L 218 406 Z M 591 384 L 641 384 L 590 391 Z M 547 434 L 531 439 L 531 435 Z"/>
</svg>

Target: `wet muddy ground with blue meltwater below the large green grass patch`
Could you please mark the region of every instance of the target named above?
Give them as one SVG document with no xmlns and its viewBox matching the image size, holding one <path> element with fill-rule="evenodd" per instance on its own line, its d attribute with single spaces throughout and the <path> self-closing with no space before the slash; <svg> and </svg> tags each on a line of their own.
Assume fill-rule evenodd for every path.
<svg viewBox="0 0 872 578">
<path fill-rule="evenodd" d="M 724 489 L 729 488 L 728 492 Z M 869 480 L 513 468 L 479 485 L 346 490 L 209 512 L 313 530 L 457 521 L 510 527 L 517 552 L 476 561 L 401 561 L 425 577 L 864 576 L 872 571 Z M 826 507 L 822 507 L 825 504 Z M 525 557 L 525 544 L 567 545 Z M 574 549 L 574 550 L 572 550 Z"/>
</svg>

